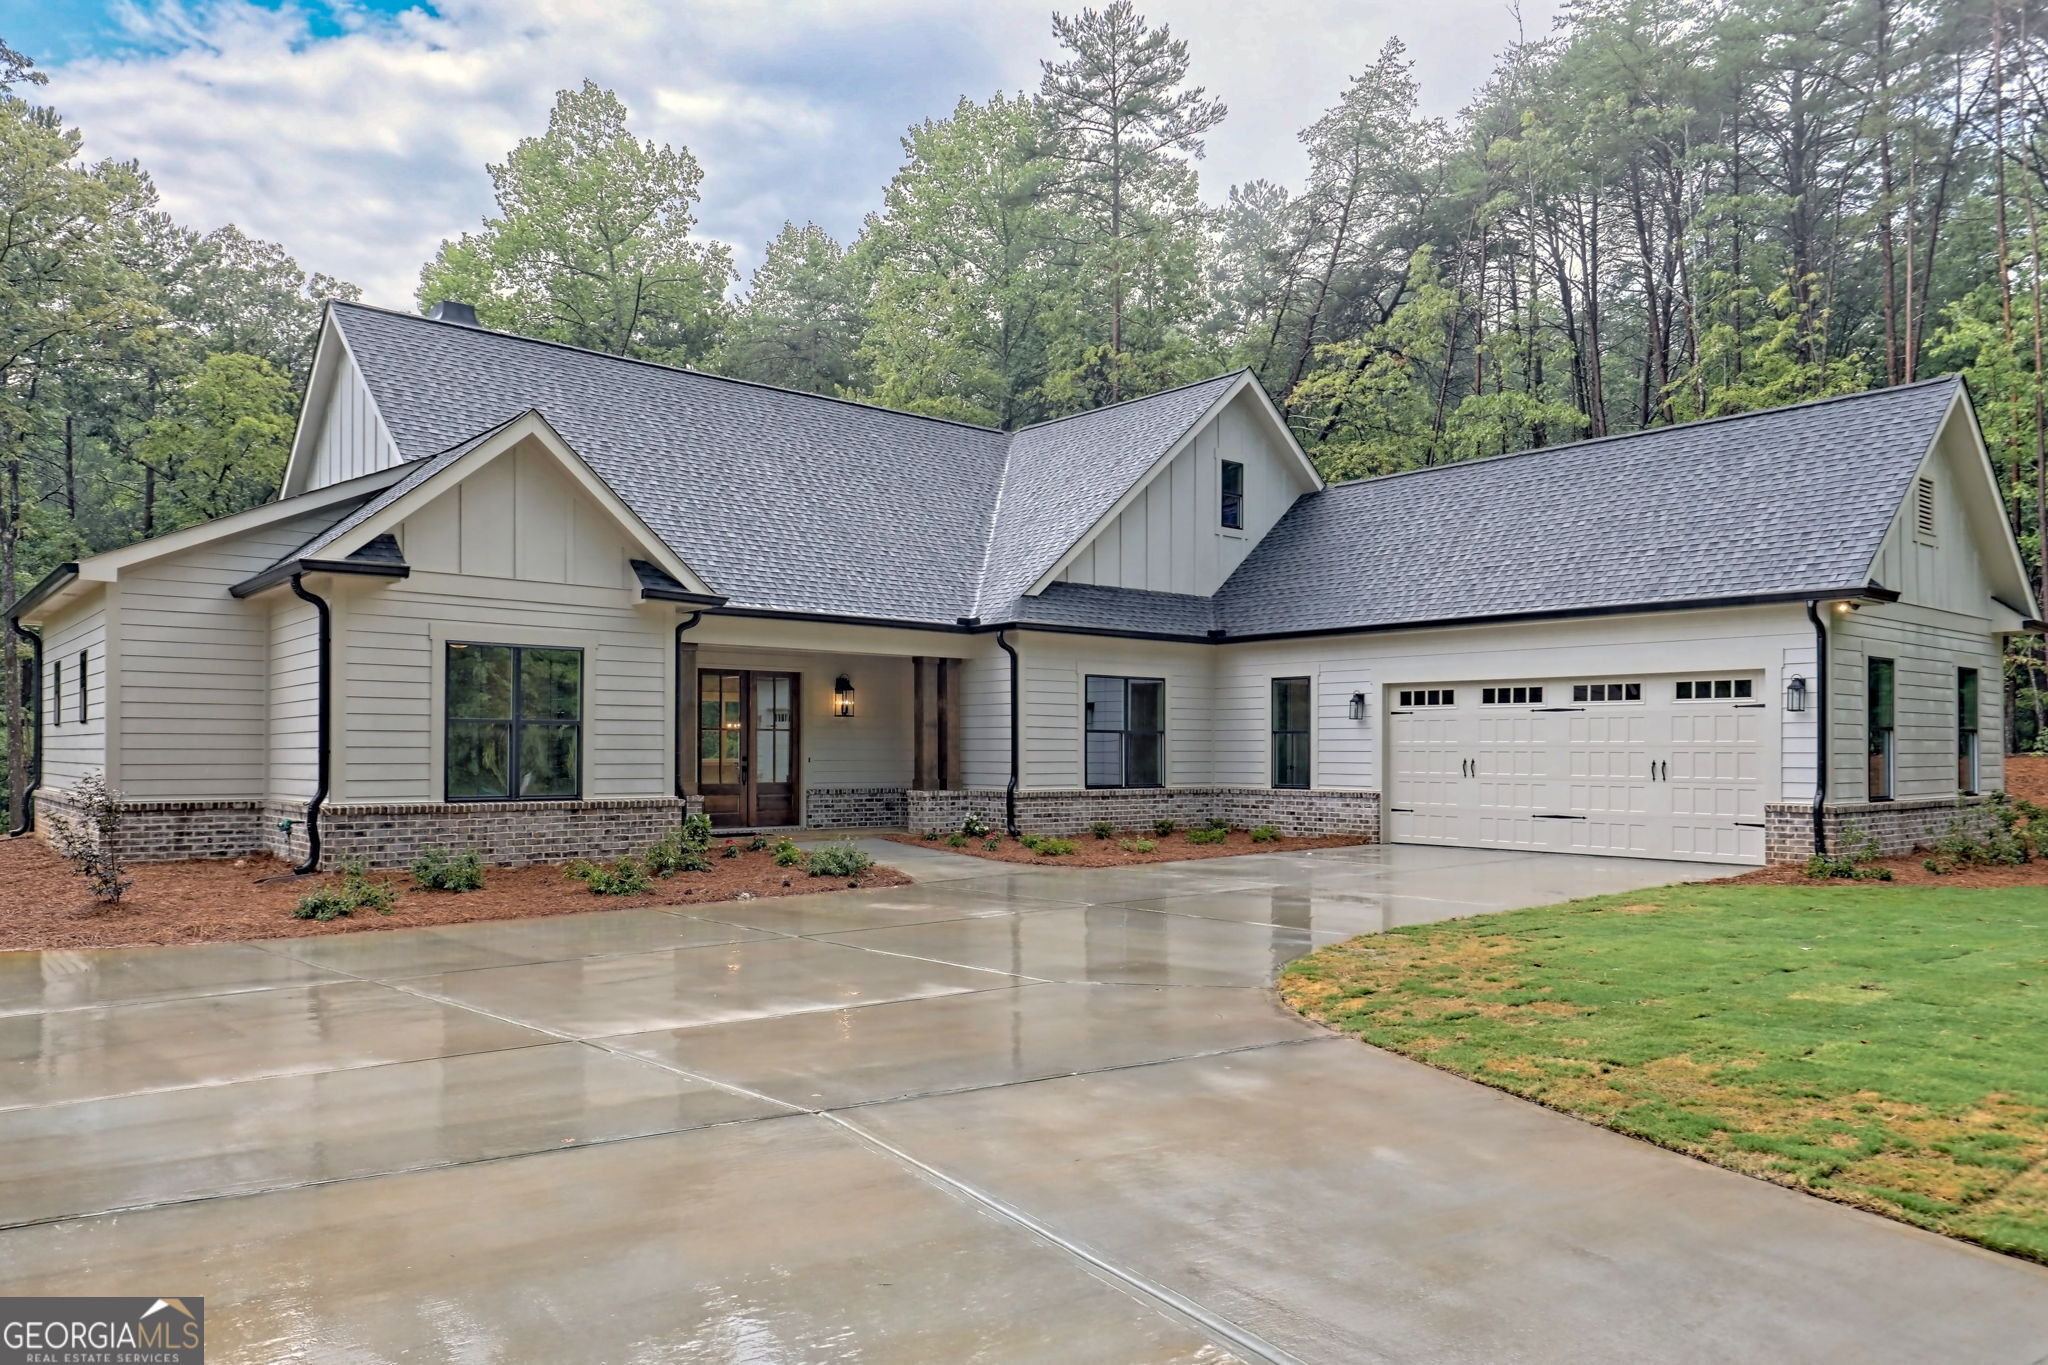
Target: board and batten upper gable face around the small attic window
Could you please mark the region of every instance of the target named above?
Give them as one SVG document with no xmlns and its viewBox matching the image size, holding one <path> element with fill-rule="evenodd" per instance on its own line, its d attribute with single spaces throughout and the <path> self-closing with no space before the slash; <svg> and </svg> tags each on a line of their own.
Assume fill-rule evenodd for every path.
<svg viewBox="0 0 2048 1365">
<path fill-rule="evenodd" d="M 1239 393 L 1149 485 L 1081 546 L 1067 583 L 1210 596 L 1274 522 L 1311 489 L 1270 430 L 1257 395 Z M 1243 528 L 1223 526 L 1223 460 L 1245 467 Z"/>
</svg>

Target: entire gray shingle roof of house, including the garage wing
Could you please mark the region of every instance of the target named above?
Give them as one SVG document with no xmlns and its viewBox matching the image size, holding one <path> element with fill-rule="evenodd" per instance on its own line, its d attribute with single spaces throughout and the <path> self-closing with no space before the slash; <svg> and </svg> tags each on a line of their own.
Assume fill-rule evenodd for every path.
<svg viewBox="0 0 2048 1365">
<path fill-rule="evenodd" d="M 539 409 L 735 608 L 1206 639 L 1860 585 L 1952 379 L 1337 485 L 1212 598 L 1026 589 L 1239 375 L 995 432 L 334 305 L 420 460 L 315 555 Z"/>
</svg>

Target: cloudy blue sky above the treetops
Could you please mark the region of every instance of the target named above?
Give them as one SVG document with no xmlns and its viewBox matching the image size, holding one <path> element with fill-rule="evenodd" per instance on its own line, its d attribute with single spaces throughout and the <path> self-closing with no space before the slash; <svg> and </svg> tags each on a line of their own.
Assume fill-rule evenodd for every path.
<svg viewBox="0 0 2048 1365">
<path fill-rule="evenodd" d="M 705 164 L 702 231 L 741 266 L 784 219 L 842 239 L 899 137 L 963 96 L 1032 88 L 1042 0 L 0 0 L 0 37 L 94 156 L 137 158 L 195 227 L 240 223 L 403 307 L 442 237 L 489 211 L 487 160 L 555 90 L 618 90 L 645 137 Z M 1505 0 L 1171 0 L 1192 80 L 1231 106 L 1202 192 L 1298 182 L 1296 129 L 1401 37 L 1430 113 L 1454 113 L 1513 37 Z M 1522 6 L 1532 31 L 1554 0 Z"/>
</svg>

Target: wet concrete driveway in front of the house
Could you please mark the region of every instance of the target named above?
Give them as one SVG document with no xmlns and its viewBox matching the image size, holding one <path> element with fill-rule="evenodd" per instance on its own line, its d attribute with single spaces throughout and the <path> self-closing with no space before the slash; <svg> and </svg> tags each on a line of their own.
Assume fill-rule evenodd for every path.
<svg viewBox="0 0 2048 1365">
<path fill-rule="evenodd" d="M 1325 1036 L 1311 945 L 1712 874 L 1374 847 L 0 954 L 0 1293 L 211 1361 L 2009 1361 L 2048 1273 Z"/>
</svg>

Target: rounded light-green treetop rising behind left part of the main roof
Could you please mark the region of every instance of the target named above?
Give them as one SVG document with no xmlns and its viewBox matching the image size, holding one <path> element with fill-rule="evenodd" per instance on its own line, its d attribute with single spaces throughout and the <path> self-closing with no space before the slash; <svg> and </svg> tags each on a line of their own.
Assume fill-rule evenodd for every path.
<svg viewBox="0 0 2048 1365">
<path fill-rule="evenodd" d="M 686 147 L 633 137 L 618 96 L 586 80 L 487 170 L 498 217 L 440 244 L 422 305 L 463 299 L 485 327 L 614 356 L 711 352 L 733 262 L 692 235 L 705 172 Z"/>
</svg>

